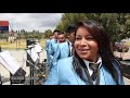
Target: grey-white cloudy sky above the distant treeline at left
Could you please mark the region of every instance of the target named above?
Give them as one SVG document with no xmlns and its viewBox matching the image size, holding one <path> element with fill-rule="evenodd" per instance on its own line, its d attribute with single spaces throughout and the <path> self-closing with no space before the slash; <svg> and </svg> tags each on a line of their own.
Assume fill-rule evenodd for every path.
<svg viewBox="0 0 130 98">
<path fill-rule="evenodd" d="M 62 13 L 0 13 L 0 21 L 9 21 L 14 30 L 32 29 L 44 32 L 54 29 L 61 21 Z"/>
</svg>

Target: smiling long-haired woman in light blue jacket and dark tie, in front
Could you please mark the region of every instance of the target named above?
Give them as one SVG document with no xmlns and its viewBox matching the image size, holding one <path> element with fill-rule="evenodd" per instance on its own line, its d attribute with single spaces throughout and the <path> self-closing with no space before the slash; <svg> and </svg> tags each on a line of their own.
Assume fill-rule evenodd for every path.
<svg viewBox="0 0 130 98">
<path fill-rule="evenodd" d="M 123 85 L 120 63 L 103 26 L 95 21 L 78 22 L 74 54 L 58 60 L 43 85 Z"/>
</svg>

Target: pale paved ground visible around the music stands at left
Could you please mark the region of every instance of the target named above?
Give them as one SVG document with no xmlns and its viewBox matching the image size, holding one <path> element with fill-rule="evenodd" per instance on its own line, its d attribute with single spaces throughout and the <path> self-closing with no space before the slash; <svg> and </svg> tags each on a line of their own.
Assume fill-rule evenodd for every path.
<svg viewBox="0 0 130 98">
<path fill-rule="evenodd" d="M 4 50 L 5 51 L 5 50 Z M 21 68 L 24 69 L 24 71 L 26 72 L 26 77 L 27 77 L 27 81 L 25 82 L 24 85 L 29 85 L 29 74 L 30 74 L 30 69 L 29 66 L 26 66 L 26 59 L 27 59 L 27 56 L 26 56 L 26 51 L 24 50 L 10 50 L 12 57 L 17 61 L 17 63 L 21 65 Z M 40 53 L 40 62 L 43 61 L 43 59 L 46 59 L 46 51 L 42 51 Z M 0 73 L 1 73 L 1 76 L 2 76 L 2 85 L 11 85 L 10 83 L 10 72 L 3 66 L 0 64 Z"/>
</svg>

